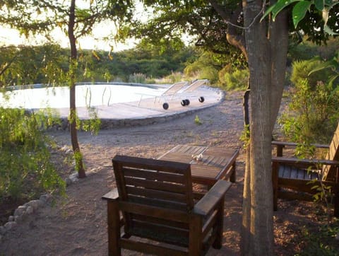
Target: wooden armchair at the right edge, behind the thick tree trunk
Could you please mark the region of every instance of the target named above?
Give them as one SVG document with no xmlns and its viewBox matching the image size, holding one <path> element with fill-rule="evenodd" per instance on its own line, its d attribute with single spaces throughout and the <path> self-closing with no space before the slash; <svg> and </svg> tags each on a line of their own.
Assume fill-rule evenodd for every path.
<svg viewBox="0 0 339 256">
<path fill-rule="evenodd" d="M 334 215 L 339 216 L 339 124 L 330 145 L 314 144 L 317 148 L 328 149 L 326 159 L 286 158 L 283 156 L 283 149 L 295 147 L 297 144 L 273 141 L 272 145 L 276 146 L 277 152 L 277 156 L 272 157 L 274 210 L 278 208 L 278 197 L 313 199 L 312 194 L 319 192 L 314 187 L 319 187 L 322 183 L 331 188 Z"/>
</svg>

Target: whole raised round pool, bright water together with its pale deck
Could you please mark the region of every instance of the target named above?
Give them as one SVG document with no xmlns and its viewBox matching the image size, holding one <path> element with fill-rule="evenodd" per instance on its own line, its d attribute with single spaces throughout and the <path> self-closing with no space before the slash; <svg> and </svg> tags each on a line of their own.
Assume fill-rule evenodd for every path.
<svg viewBox="0 0 339 256">
<path fill-rule="evenodd" d="M 100 129 L 155 124 L 159 122 L 169 122 L 176 118 L 191 115 L 203 108 L 217 105 L 225 98 L 223 91 L 208 86 L 202 86 L 194 93 L 179 92 L 174 95 L 173 98 L 157 97 L 161 95 L 168 86 L 170 85 L 141 83 L 87 83 L 78 85 L 76 87 L 76 95 L 77 97 L 83 95 L 82 100 L 76 99 L 78 117 L 81 120 L 90 118 L 88 112 L 88 106 L 90 106 L 101 120 Z M 61 87 L 56 88 L 60 90 L 59 88 Z M 80 93 L 79 88 L 81 88 Z M 61 98 L 59 98 L 59 100 L 56 100 L 57 97 L 55 91 L 53 91 L 54 88 L 46 89 L 41 84 L 16 86 L 16 88 L 12 89 L 13 90 L 8 93 L 16 93 L 16 95 L 19 95 L 21 98 L 13 100 L 12 103 L 5 101 L 6 104 L 9 104 L 8 107 L 25 106 L 25 109 L 29 112 L 37 111 L 41 109 L 41 107 L 50 107 L 61 119 L 61 124 L 57 124 L 54 128 L 69 129 L 68 87 L 60 90 Z M 114 89 L 118 90 L 114 91 Z M 20 95 L 20 93 L 26 90 L 30 90 L 33 100 L 28 100 L 28 96 Z M 37 95 L 39 94 L 42 95 L 40 96 L 42 100 L 38 100 Z M 49 98 L 47 98 L 47 96 L 49 96 Z M 198 101 L 200 96 L 205 98 L 203 103 Z M 181 100 L 186 98 L 189 98 L 191 104 L 182 106 Z M 48 105 L 43 105 L 47 102 L 49 103 Z M 164 102 L 169 103 L 169 108 L 166 110 L 162 107 Z M 0 106 L 4 107 L 5 103 L 1 103 L 0 100 Z M 25 105 L 21 105 L 23 103 L 25 103 Z"/>
</svg>

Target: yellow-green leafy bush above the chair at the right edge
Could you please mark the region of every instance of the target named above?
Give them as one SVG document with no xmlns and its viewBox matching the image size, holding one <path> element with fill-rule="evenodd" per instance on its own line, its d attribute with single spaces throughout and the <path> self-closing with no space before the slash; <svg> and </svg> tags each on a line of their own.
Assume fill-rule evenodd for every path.
<svg viewBox="0 0 339 256">
<path fill-rule="evenodd" d="M 297 62 L 293 65 L 290 104 L 279 122 L 288 139 L 301 144 L 331 139 L 339 119 L 339 91 L 328 83 L 328 73 L 314 72 L 319 62 Z"/>
</svg>

